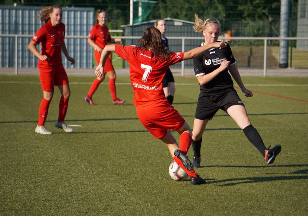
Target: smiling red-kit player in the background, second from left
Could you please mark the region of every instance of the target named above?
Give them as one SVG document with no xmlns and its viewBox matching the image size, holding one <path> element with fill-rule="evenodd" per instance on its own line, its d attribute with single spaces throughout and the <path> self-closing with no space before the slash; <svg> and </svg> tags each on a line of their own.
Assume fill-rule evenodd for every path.
<svg viewBox="0 0 308 216">
<path fill-rule="evenodd" d="M 99 64 L 100 56 L 102 54 L 103 48 L 107 45 L 107 43 L 116 43 L 120 42 L 122 44 L 122 40 L 120 38 L 112 39 L 109 34 L 109 29 L 105 26 L 107 20 L 107 15 L 104 10 L 97 10 L 97 17 L 95 20 L 95 25 L 92 27 L 89 37 L 88 37 L 88 44 L 95 48 L 94 56 L 97 64 Z M 115 69 L 112 66 L 111 59 L 108 58 L 106 61 L 105 72 L 109 77 L 109 90 L 112 97 L 113 104 L 122 104 L 125 100 L 121 100 L 116 96 L 116 89 L 115 89 Z M 84 98 L 84 101 L 89 103 L 90 105 L 95 105 L 92 100 L 92 96 L 96 89 L 98 88 L 99 84 L 105 79 L 105 74 L 102 77 L 96 77 L 93 81 L 90 90 L 87 96 Z"/>
</svg>

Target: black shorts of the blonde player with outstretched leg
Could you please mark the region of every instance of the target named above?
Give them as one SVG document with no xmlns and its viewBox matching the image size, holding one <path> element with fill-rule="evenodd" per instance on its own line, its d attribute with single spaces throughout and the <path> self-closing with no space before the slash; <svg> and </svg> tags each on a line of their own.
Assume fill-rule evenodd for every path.
<svg viewBox="0 0 308 216">
<path fill-rule="evenodd" d="M 228 108 L 232 105 L 244 106 L 235 89 L 229 89 L 218 95 L 199 94 L 195 118 L 212 119 L 219 109 L 227 113 Z"/>
</svg>

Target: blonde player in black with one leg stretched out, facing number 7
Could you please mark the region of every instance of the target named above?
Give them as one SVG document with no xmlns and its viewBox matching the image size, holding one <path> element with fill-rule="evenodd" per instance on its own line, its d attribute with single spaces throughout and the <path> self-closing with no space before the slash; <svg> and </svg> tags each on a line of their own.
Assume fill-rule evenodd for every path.
<svg viewBox="0 0 308 216">
<path fill-rule="evenodd" d="M 220 28 L 217 19 L 204 21 L 195 15 L 194 31 L 202 33 L 205 38 L 201 46 L 217 42 Z M 252 97 L 253 93 L 245 88 L 235 63 L 229 44 L 224 49 L 213 48 L 193 59 L 195 75 L 201 85 L 193 124 L 193 167 L 200 167 L 202 134 L 206 124 L 219 109 L 233 118 L 247 139 L 264 156 L 267 164 L 273 163 L 281 151 L 280 145 L 272 149 L 266 148 L 259 133 L 250 123 L 245 106 L 233 88 L 230 74 L 246 97 Z"/>
</svg>

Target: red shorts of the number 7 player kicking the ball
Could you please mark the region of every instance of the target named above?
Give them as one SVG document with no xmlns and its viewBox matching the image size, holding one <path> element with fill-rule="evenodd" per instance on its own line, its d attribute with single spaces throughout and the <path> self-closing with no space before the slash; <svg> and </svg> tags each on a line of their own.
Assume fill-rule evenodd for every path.
<svg viewBox="0 0 308 216">
<path fill-rule="evenodd" d="M 168 129 L 178 130 L 185 123 L 184 118 L 167 99 L 148 106 L 136 107 L 136 112 L 140 122 L 156 139 L 163 138 Z"/>
</svg>

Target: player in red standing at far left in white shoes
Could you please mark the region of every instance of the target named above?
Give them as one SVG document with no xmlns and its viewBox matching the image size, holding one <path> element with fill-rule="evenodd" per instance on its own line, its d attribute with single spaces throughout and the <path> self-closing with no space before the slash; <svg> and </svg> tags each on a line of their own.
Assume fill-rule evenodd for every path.
<svg viewBox="0 0 308 216">
<path fill-rule="evenodd" d="M 71 90 L 62 64 L 61 51 L 71 64 L 75 64 L 75 59 L 68 55 L 64 43 L 65 25 L 61 23 L 62 13 L 59 5 L 43 8 L 37 17 L 45 24 L 35 33 L 28 45 L 28 49 L 39 58 L 39 77 L 43 90 L 43 100 L 39 107 L 39 123 L 35 128 L 35 132 L 39 134 L 52 134 L 44 125 L 55 86 L 59 87 L 61 93 L 59 116 L 55 127 L 62 128 L 67 133 L 73 132 L 73 129 L 64 122 Z M 40 43 L 41 53 L 36 48 Z"/>
</svg>

